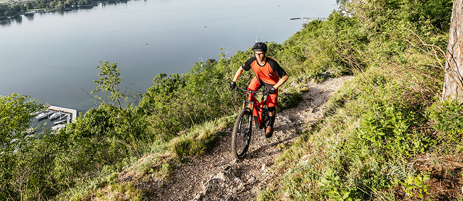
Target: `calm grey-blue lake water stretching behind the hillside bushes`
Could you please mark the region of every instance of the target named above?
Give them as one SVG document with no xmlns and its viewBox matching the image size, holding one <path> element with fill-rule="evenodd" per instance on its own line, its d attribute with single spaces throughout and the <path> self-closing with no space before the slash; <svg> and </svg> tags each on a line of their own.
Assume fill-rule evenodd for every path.
<svg viewBox="0 0 463 201">
<path fill-rule="evenodd" d="M 328 17 L 333 1 L 146 0 L 0 21 L 0 95 L 85 112 L 100 60 L 118 63 L 126 84 L 145 92 L 159 73 L 186 73 L 195 62 L 232 56 L 255 41 L 282 43 L 305 23 Z M 223 48 L 223 50 L 220 50 Z"/>
</svg>

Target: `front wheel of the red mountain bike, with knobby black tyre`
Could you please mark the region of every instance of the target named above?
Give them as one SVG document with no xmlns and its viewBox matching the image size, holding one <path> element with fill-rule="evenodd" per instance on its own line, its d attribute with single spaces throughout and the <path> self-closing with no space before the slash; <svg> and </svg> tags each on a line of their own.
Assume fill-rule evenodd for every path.
<svg viewBox="0 0 463 201">
<path fill-rule="evenodd" d="M 251 141 L 252 132 L 252 113 L 249 108 L 243 109 L 235 122 L 233 127 L 233 146 L 232 155 L 240 160 L 246 155 Z"/>
</svg>

